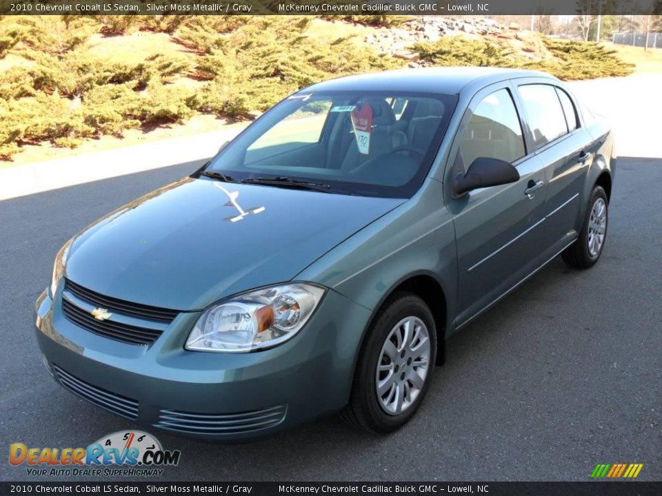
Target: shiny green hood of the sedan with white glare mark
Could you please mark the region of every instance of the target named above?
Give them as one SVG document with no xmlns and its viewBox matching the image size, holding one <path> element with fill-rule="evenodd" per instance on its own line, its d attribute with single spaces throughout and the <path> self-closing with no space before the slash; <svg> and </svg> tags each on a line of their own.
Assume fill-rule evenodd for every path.
<svg viewBox="0 0 662 496">
<path fill-rule="evenodd" d="M 184 178 L 82 231 L 66 276 L 130 302 L 202 309 L 292 280 L 403 201 Z"/>
</svg>

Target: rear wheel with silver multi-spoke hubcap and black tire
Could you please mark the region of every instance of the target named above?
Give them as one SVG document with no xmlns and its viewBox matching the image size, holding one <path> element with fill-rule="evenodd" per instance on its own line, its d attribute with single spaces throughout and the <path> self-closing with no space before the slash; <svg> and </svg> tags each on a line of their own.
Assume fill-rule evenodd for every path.
<svg viewBox="0 0 662 496">
<path fill-rule="evenodd" d="M 563 261 L 570 267 L 588 269 L 600 258 L 607 240 L 608 205 L 605 190 L 601 186 L 594 187 L 579 238 L 561 254 Z"/>
</svg>

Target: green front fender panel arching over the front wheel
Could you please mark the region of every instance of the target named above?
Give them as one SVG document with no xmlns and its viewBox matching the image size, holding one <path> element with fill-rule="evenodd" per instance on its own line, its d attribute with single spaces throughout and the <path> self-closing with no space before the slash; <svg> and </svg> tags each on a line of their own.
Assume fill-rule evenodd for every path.
<svg viewBox="0 0 662 496">
<path fill-rule="evenodd" d="M 455 232 L 442 185 L 430 178 L 417 195 L 329 251 L 297 279 L 331 287 L 374 311 L 393 289 L 420 275 L 441 286 L 445 329 L 450 329 L 457 298 Z"/>
</svg>

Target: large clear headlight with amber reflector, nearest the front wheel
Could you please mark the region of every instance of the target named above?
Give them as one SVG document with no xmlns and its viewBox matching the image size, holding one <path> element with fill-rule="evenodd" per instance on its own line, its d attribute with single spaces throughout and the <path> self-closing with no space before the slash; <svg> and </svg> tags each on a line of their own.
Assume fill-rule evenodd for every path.
<svg viewBox="0 0 662 496">
<path fill-rule="evenodd" d="M 274 347 L 301 330 L 324 292 L 293 282 L 235 296 L 204 311 L 185 348 L 243 352 Z"/>
</svg>

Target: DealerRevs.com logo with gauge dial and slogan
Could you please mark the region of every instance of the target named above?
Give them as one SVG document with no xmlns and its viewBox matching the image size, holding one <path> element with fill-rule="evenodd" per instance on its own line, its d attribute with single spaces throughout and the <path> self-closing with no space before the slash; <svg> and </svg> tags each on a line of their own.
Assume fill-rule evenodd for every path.
<svg viewBox="0 0 662 496">
<path fill-rule="evenodd" d="M 14 443 L 9 462 L 26 465 L 30 476 L 159 477 L 165 466 L 179 464 L 179 450 L 164 450 L 159 440 L 141 431 L 119 431 L 86 448 L 34 448 Z"/>
</svg>

